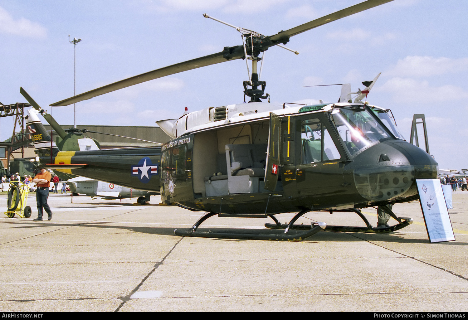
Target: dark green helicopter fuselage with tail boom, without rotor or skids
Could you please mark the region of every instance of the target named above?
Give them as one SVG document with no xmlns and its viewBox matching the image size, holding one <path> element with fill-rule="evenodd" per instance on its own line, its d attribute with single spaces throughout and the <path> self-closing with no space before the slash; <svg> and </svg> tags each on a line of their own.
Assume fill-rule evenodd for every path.
<svg viewBox="0 0 468 320">
<path fill-rule="evenodd" d="M 336 103 L 255 111 L 187 127 L 161 147 L 58 152 L 50 167 L 161 191 L 163 203 L 194 211 L 242 214 L 407 202 L 417 199 L 416 179 L 437 176 L 436 161 L 402 139 L 388 110 Z"/>
</svg>

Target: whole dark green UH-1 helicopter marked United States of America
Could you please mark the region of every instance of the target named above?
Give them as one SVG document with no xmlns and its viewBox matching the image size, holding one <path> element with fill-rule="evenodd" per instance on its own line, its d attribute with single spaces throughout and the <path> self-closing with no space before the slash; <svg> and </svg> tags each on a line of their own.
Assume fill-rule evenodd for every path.
<svg viewBox="0 0 468 320">
<path fill-rule="evenodd" d="M 336 103 L 276 105 L 268 99 L 265 81 L 257 74 L 261 52 L 290 37 L 391 0 L 368 0 L 355 6 L 278 32 L 273 36 L 244 30 L 243 45 L 121 80 L 51 104 L 65 106 L 147 80 L 202 66 L 249 59 L 250 79 L 243 82 L 249 103 L 186 112 L 178 119 L 157 121 L 173 139 L 161 147 L 59 152 L 31 109 L 28 122 L 41 136 L 33 137 L 41 167 L 123 186 L 161 192 L 163 203 L 206 211 L 177 235 L 210 238 L 303 240 L 321 230 L 388 233 L 409 225 L 388 204 L 418 198 L 416 179 L 435 178 L 437 162 L 400 135 L 391 111 L 366 101 L 375 80 L 351 93 L 342 87 Z M 356 94 L 354 101 L 351 96 Z M 28 99 L 32 105 L 37 104 Z M 36 112 L 37 113 L 37 112 Z M 361 208 L 380 206 L 398 221 L 373 227 Z M 275 215 L 299 211 L 287 224 Z M 309 211 L 355 212 L 366 226 L 333 226 L 324 222 L 294 225 Z M 271 229 L 245 233 L 201 232 L 214 215 L 271 217 Z"/>
</svg>

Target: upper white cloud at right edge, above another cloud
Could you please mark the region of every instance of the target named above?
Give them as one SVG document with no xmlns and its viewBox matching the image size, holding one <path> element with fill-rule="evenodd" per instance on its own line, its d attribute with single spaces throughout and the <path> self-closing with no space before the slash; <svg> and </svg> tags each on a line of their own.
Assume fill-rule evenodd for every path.
<svg viewBox="0 0 468 320">
<path fill-rule="evenodd" d="M 428 77 L 446 73 L 457 73 L 468 69 L 468 58 L 434 58 L 408 56 L 399 59 L 396 65 L 388 71 L 388 75 L 397 77 Z"/>
</svg>

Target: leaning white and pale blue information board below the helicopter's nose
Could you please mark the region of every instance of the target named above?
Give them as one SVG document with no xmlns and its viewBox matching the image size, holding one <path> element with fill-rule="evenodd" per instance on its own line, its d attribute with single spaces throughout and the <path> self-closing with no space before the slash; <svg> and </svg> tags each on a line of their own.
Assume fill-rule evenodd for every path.
<svg viewBox="0 0 468 320">
<path fill-rule="evenodd" d="M 429 241 L 454 241 L 455 236 L 440 180 L 417 179 L 416 184 Z"/>
</svg>

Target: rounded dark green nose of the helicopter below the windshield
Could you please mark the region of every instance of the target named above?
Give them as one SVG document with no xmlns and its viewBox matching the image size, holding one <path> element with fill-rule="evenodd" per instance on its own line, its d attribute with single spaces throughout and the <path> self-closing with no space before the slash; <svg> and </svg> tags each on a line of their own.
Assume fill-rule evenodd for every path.
<svg viewBox="0 0 468 320">
<path fill-rule="evenodd" d="M 417 195 L 416 179 L 437 178 L 437 162 L 419 147 L 387 140 L 355 158 L 353 170 L 359 194 L 369 201 L 400 200 Z"/>
</svg>

